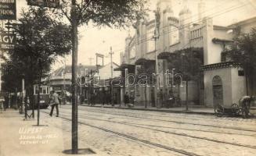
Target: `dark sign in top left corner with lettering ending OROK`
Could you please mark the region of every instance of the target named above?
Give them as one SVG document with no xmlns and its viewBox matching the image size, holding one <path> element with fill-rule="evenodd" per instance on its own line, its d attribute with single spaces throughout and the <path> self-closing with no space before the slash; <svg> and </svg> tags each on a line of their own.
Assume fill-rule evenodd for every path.
<svg viewBox="0 0 256 156">
<path fill-rule="evenodd" d="M 0 20 L 16 20 L 16 0 L 0 0 Z"/>
</svg>

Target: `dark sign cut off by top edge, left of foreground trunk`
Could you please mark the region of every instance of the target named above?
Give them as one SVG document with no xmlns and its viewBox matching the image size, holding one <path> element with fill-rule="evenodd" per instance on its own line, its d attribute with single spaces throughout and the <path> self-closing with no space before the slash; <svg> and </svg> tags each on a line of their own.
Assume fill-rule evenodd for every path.
<svg viewBox="0 0 256 156">
<path fill-rule="evenodd" d="M 27 0 L 27 5 L 57 8 L 59 7 L 59 0 Z"/>
</svg>

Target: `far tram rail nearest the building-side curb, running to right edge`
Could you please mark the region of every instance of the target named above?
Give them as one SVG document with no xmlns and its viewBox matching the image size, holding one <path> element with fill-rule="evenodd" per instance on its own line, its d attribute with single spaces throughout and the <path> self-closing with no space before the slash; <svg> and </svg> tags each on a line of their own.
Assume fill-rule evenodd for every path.
<svg viewBox="0 0 256 156">
<path fill-rule="evenodd" d="M 64 109 L 68 109 L 68 108 L 64 108 Z M 70 109 L 68 109 L 70 110 Z M 97 112 L 97 111 L 90 111 L 90 110 L 79 110 L 82 112 L 93 112 L 93 113 L 102 113 L 102 114 L 106 114 L 106 115 L 118 115 L 118 116 L 126 116 L 126 117 L 130 117 L 130 118 L 135 118 L 135 119 L 146 119 L 146 120 L 152 120 L 152 121 L 160 121 L 160 122 L 174 122 L 177 124 L 182 124 L 182 125 L 193 125 L 193 126 L 207 126 L 207 127 L 214 127 L 214 128 L 220 128 L 220 129 L 236 129 L 236 130 L 242 130 L 242 131 L 248 131 L 248 132 L 256 132 L 256 129 L 243 129 L 240 127 L 231 127 L 231 126 L 214 126 L 214 125 L 207 125 L 207 124 L 198 124 L 198 123 L 191 123 L 191 122 L 178 122 L 178 121 L 174 121 L 174 120 L 165 120 L 165 119 L 152 119 L 152 118 L 145 118 L 145 117 L 139 117 L 139 116 L 132 116 L 132 115 L 124 115 L 123 114 L 117 114 L 115 112 L 111 112 L 111 113 L 107 113 L 107 112 Z"/>
</svg>

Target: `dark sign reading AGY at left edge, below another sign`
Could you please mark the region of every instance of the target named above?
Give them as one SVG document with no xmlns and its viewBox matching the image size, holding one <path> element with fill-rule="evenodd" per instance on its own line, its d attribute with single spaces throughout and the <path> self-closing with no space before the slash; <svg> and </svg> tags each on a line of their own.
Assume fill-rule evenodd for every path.
<svg viewBox="0 0 256 156">
<path fill-rule="evenodd" d="M 16 34 L 0 33 L 0 49 L 9 50 L 14 49 L 16 44 Z"/>
</svg>

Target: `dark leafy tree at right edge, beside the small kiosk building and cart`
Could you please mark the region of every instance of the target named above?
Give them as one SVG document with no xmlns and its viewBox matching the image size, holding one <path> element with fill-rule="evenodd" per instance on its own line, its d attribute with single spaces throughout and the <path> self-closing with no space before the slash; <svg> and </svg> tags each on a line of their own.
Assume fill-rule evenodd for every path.
<svg viewBox="0 0 256 156">
<path fill-rule="evenodd" d="M 241 34 L 236 29 L 236 36 L 233 38 L 231 58 L 237 67 L 241 67 L 245 74 L 247 94 L 254 93 L 254 76 L 256 69 L 256 28 L 252 28 L 249 34 Z M 249 93 L 249 86 L 251 91 Z"/>
</svg>

